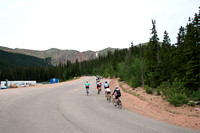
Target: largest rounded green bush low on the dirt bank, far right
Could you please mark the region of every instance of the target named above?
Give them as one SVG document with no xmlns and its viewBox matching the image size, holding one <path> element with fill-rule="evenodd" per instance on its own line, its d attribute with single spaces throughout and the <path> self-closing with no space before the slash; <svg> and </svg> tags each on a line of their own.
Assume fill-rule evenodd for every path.
<svg viewBox="0 0 200 133">
<path fill-rule="evenodd" d="M 171 94 L 169 99 L 167 100 L 170 104 L 173 104 L 175 107 L 181 106 L 183 104 L 188 103 L 188 98 L 185 94 L 174 93 Z"/>
</svg>

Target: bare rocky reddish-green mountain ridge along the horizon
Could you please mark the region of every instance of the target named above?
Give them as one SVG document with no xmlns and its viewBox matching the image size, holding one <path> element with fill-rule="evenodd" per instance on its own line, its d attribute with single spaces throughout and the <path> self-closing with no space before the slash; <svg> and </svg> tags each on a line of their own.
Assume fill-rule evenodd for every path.
<svg viewBox="0 0 200 133">
<path fill-rule="evenodd" d="M 45 58 L 51 58 L 51 64 L 58 65 L 59 63 L 65 64 L 67 60 L 70 60 L 72 62 L 75 62 L 78 60 L 79 62 L 89 60 L 89 59 L 95 59 L 99 55 L 106 55 L 108 51 L 113 52 L 115 48 L 106 48 L 100 51 L 85 51 L 85 52 L 79 52 L 76 50 L 60 50 L 56 48 L 51 48 L 44 51 L 39 50 L 28 50 L 28 49 L 11 49 L 7 47 L 1 47 L 0 50 L 11 52 L 11 53 L 18 53 L 18 54 L 25 54 L 29 56 L 38 57 L 41 59 Z"/>
</svg>

